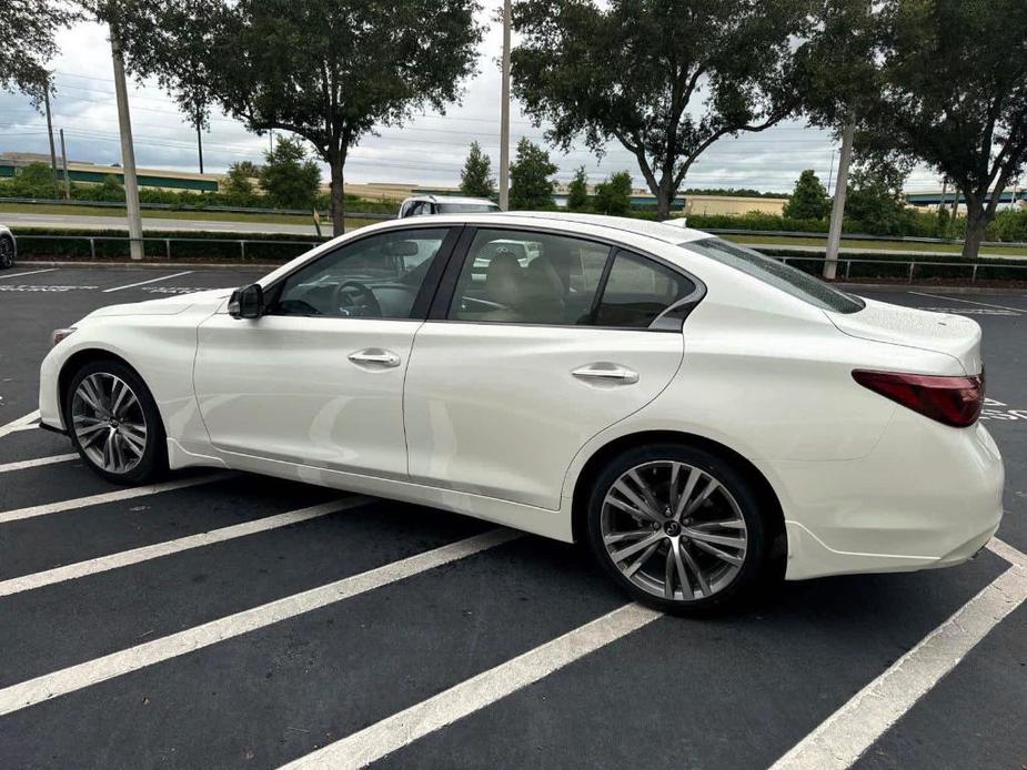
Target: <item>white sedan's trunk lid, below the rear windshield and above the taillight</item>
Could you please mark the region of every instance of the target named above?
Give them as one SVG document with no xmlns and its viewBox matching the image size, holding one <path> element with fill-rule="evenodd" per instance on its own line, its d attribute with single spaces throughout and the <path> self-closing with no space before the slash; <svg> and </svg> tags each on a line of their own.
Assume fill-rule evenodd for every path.
<svg viewBox="0 0 1027 770">
<path fill-rule="evenodd" d="M 956 358 L 967 374 L 980 373 L 980 326 L 976 321 L 876 300 L 865 302 L 866 307 L 858 313 L 826 315 L 849 336 L 945 353 Z"/>
</svg>

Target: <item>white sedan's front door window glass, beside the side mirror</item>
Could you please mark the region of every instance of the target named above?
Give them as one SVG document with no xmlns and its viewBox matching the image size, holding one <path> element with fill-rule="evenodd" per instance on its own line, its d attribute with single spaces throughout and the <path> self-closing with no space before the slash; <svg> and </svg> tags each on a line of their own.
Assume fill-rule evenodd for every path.
<svg viewBox="0 0 1027 770">
<path fill-rule="evenodd" d="M 285 278 L 274 315 L 409 318 L 445 227 L 399 230 L 343 244 Z"/>
</svg>

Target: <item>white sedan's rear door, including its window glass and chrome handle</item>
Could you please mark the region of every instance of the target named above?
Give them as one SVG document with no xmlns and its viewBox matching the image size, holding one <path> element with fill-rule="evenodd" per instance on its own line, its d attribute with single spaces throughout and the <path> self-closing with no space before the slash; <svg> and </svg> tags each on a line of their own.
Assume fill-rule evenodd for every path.
<svg viewBox="0 0 1027 770">
<path fill-rule="evenodd" d="M 677 372 L 681 327 L 660 318 L 696 284 L 585 239 L 469 229 L 463 242 L 411 354 L 411 480 L 557 509 L 578 449 Z"/>
</svg>

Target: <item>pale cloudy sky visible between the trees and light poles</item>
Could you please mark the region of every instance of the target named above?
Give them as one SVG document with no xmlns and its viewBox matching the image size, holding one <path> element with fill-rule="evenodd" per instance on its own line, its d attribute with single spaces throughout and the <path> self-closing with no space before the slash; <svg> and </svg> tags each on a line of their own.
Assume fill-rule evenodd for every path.
<svg viewBox="0 0 1027 770">
<path fill-rule="evenodd" d="M 348 182 L 410 182 L 420 185 L 455 185 L 467 144 L 477 140 L 499 162 L 500 72 L 496 58 L 501 31 L 491 20 L 497 0 L 486 0 L 482 20 L 489 31 L 479 58 L 479 74 L 465 84 L 460 104 L 445 114 L 426 113 L 402 128 L 383 129 L 351 151 Z M 63 128 L 69 159 L 94 163 L 121 160 L 117 110 L 113 97 L 110 45 L 105 28 L 83 23 L 60 36 L 61 54 L 51 63 L 57 95 L 52 102 L 54 130 Z M 131 83 L 129 100 L 135 138 L 137 164 L 141 168 L 197 171 L 197 141 L 174 102 L 152 83 Z M 512 144 L 520 136 L 540 143 L 542 129 L 525 118 L 516 103 L 511 116 Z M 269 138 L 245 131 L 223 114 L 212 115 L 203 136 L 207 171 L 223 171 L 239 160 L 260 162 Z M 787 191 L 803 169 L 814 169 L 825 182 L 836 160 L 836 143 L 825 132 L 791 122 L 759 134 L 723 139 L 693 166 L 685 186 L 755 188 Z M 0 93 L 0 152 L 49 152 L 46 120 L 20 94 Z M 60 152 L 60 149 L 58 149 Z M 611 145 L 597 161 L 584 144 L 567 154 L 552 152 L 560 166 L 557 179 L 570 180 L 574 169 L 585 165 L 591 181 L 602 181 L 614 171 L 631 171 L 635 186 L 644 186 L 634 158 Z M 326 170 L 324 172 L 326 176 Z M 919 172 L 907 189 L 939 186 L 929 172 Z"/>
</svg>

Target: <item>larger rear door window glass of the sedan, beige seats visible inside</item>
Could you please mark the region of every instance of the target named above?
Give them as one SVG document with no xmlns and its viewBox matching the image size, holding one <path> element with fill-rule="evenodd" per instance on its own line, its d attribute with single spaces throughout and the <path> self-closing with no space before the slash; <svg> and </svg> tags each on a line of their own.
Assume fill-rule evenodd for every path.
<svg viewBox="0 0 1027 770">
<path fill-rule="evenodd" d="M 563 235 L 480 230 L 449 317 L 521 324 L 591 324 L 610 246 Z"/>
</svg>

